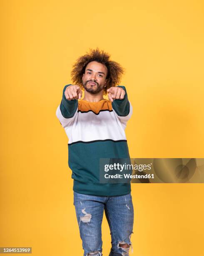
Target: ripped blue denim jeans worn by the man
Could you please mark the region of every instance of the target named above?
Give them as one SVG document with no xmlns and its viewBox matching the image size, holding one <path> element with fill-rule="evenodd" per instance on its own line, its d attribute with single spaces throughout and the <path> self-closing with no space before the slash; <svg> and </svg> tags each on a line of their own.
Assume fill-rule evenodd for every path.
<svg viewBox="0 0 204 256">
<path fill-rule="evenodd" d="M 101 197 L 74 192 L 74 205 L 84 256 L 102 256 L 101 224 L 103 212 L 109 224 L 112 248 L 109 256 L 129 256 L 134 210 L 131 193 Z M 123 248 L 126 245 L 128 248 Z"/>
</svg>

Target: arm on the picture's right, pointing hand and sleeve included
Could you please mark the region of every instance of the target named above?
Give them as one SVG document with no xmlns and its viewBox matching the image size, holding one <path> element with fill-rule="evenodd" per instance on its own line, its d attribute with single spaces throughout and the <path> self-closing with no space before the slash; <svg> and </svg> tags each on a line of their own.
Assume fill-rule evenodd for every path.
<svg viewBox="0 0 204 256">
<path fill-rule="evenodd" d="M 112 102 L 114 113 L 122 123 L 127 123 L 132 115 L 132 105 L 128 100 L 126 88 L 119 85 L 109 88 L 107 92 L 109 100 Z"/>
</svg>

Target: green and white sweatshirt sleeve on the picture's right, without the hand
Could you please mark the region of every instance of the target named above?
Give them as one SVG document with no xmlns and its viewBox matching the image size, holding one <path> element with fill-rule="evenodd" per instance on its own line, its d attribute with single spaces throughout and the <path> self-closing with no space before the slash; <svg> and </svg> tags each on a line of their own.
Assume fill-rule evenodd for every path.
<svg viewBox="0 0 204 256">
<path fill-rule="evenodd" d="M 128 100 L 127 91 L 125 87 L 124 86 L 118 86 L 118 87 L 122 87 L 122 89 L 125 91 L 125 95 L 122 100 L 114 100 L 112 102 L 112 109 L 115 115 L 121 121 L 121 123 L 126 124 L 132 115 L 132 105 Z"/>
</svg>

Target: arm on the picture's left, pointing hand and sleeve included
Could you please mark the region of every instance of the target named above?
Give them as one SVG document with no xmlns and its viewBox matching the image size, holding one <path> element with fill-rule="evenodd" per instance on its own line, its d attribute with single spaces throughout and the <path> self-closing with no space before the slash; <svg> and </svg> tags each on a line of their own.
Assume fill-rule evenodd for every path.
<svg viewBox="0 0 204 256">
<path fill-rule="evenodd" d="M 72 86 L 72 88 L 70 86 Z M 69 88 L 67 89 L 67 87 Z M 82 92 L 78 86 L 73 86 L 73 84 L 65 85 L 61 103 L 56 110 L 57 118 L 60 120 L 63 128 L 67 125 L 71 125 L 72 121 L 75 119 L 78 110 L 77 99 L 81 97 L 81 94 Z"/>
</svg>

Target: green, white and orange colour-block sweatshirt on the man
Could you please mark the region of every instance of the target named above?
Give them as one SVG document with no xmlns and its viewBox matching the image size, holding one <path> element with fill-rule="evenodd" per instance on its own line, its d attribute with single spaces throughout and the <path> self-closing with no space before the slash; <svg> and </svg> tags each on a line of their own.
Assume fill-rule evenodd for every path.
<svg viewBox="0 0 204 256">
<path fill-rule="evenodd" d="M 100 183 L 100 158 L 129 158 L 125 128 L 132 115 L 127 92 L 122 100 L 67 100 L 65 85 L 56 115 L 65 129 L 68 165 L 73 190 L 86 195 L 119 196 L 131 191 L 130 183 Z"/>
</svg>

